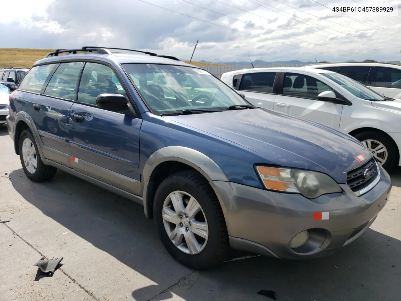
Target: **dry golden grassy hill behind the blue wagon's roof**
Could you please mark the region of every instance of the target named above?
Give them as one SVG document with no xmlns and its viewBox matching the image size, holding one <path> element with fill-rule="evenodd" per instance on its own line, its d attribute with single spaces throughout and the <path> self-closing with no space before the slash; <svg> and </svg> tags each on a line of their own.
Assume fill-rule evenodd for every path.
<svg viewBox="0 0 401 301">
<path fill-rule="evenodd" d="M 27 67 L 30 68 L 33 63 L 43 59 L 45 55 L 54 49 L 29 49 L 29 48 L 0 48 L 0 68 L 4 67 Z M 184 61 L 189 63 L 189 61 Z M 191 62 L 194 66 L 219 66 L 221 64 Z"/>
</svg>

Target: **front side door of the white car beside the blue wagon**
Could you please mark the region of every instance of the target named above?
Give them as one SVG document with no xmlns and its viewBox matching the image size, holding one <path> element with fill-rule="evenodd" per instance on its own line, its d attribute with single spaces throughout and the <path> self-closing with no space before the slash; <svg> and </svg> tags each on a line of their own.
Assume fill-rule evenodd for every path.
<svg viewBox="0 0 401 301">
<path fill-rule="evenodd" d="M 340 127 L 342 104 L 318 100 L 324 91 L 333 91 L 328 83 L 302 73 L 284 73 L 274 110 L 292 116 L 310 119 L 332 128 Z M 337 92 L 338 93 L 338 92 Z"/>
</svg>

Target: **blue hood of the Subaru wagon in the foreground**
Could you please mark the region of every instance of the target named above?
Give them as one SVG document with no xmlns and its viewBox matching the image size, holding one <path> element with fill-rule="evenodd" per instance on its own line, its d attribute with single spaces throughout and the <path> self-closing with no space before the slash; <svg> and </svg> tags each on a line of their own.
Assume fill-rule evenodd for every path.
<svg viewBox="0 0 401 301">
<path fill-rule="evenodd" d="M 235 144 L 265 158 L 265 163 L 320 171 L 338 183 L 346 172 L 371 159 L 353 137 L 322 124 L 263 108 L 166 117 Z M 365 155 L 366 161 L 355 157 Z"/>
</svg>

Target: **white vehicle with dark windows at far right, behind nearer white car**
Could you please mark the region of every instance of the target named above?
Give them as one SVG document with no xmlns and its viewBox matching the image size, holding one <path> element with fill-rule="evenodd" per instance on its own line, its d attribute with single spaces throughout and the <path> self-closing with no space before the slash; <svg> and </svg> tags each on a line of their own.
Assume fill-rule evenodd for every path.
<svg viewBox="0 0 401 301">
<path fill-rule="evenodd" d="M 303 68 L 318 68 L 348 76 L 386 97 L 401 99 L 401 65 L 366 60 L 352 63 L 318 63 Z"/>
</svg>

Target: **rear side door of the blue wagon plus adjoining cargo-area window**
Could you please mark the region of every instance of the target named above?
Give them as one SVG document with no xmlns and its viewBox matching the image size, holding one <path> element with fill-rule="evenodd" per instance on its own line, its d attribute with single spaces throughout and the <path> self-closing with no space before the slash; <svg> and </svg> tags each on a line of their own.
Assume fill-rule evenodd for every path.
<svg viewBox="0 0 401 301">
<path fill-rule="evenodd" d="M 77 62 L 34 67 L 19 87 L 41 89 L 40 95 L 25 99 L 24 111 L 34 120 L 45 158 L 67 166 L 71 165 L 68 116 L 82 66 L 82 62 Z"/>
</svg>

